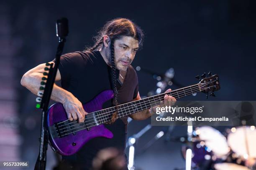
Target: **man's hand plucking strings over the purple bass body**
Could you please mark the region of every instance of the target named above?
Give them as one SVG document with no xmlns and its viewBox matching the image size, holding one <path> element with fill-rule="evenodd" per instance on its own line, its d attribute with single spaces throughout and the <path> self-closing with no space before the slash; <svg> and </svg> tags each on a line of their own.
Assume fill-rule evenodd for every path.
<svg viewBox="0 0 256 170">
<path fill-rule="evenodd" d="M 71 94 L 65 98 L 62 104 L 67 112 L 69 120 L 77 120 L 78 117 L 78 122 L 84 122 L 84 117 L 88 113 L 85 112 L 82 103 L 77 99 L 77 97 L 74 97 L 74 95 Z"/>
</svg>

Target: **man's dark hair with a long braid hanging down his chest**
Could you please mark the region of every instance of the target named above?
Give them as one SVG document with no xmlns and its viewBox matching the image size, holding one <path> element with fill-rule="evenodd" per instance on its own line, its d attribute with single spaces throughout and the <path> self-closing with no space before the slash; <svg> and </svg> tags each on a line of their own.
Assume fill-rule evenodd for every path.
<svg viewBox="0 0 256 170">
<path fill-rule="evenodd" d="M 108 35 L 110 37 L 110 61 L 111 61 L 111 80 L 113 84 L 114 91 L 114 104 L 117 112 L 112 115 L 111 123 L 117 119 L 118 113 L 118 90 L 117 90 L 117 75 L 116 75 L 116 66 L 115 66 L 115 50 L 114 42 L 115 40 L 120 39 L 122 36 L 133 37 L 135 40 L 138 40 L 139 47 L 142 47 L 143 43 L 143 31 L 141 28 L 133 23 L 131 20 L 126 18 L 116 18 L 114 20 L 108 21 L 103 28 L 98 32 L 94 37 L 95 44 L 92 47 L 87 47 L 84 52 L 91 53 L 93 51 L 100 50 L 103 44 L 103 35 Z"/>
</svg>

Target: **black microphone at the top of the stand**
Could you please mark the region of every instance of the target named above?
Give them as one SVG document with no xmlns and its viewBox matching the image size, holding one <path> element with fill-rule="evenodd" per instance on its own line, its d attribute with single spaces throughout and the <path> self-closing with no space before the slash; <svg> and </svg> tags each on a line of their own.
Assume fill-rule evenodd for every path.
<svg viewBox="0 0 256 170">
<path fill-rule="evenodd" d="M 61 18 L 56 21 L 56 36 L 59 39 L 67 37 L 69 33 L 68 20 L 67 18 Z"/>
</svg>

